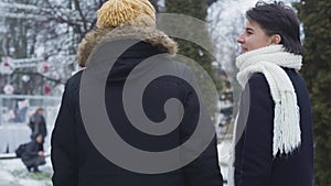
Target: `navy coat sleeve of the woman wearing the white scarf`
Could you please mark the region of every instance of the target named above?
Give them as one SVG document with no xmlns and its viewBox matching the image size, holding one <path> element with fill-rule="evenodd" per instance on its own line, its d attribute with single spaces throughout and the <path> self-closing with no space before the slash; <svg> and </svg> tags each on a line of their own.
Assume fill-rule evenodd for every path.
<svg viewBox="0 0 331 186">
<path fill-rule="evenodd" d="M 239 186 L 269 185 L 273 165 L 274 101 L 263 74 L 254 74 L 244 90 L 249 99 L 244 130 Z M 246 110 L 247 111 L 247 110 Z"/>
</svg>

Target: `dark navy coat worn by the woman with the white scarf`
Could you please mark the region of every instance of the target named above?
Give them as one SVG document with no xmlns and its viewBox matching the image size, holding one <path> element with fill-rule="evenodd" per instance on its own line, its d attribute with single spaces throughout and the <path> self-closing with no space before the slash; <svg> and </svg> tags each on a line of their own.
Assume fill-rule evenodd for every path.
<svg viewBox="0 0 331 186">
<path fill-rule="evenodd" d="M 278 153 L 273 157 L 275 103 L 265 76 L 260 73 L 252 75 L 243 92 L 242 114 L 238 118 L 238 125 L 245 122 L 246 125 L 235 146 L 236 186 L 312 186 L 313 144 L 309 95 L 300 75 L 293 69 L 284 69 L 298 98 L 301 145 L 289 155 Z"/>
</svg>

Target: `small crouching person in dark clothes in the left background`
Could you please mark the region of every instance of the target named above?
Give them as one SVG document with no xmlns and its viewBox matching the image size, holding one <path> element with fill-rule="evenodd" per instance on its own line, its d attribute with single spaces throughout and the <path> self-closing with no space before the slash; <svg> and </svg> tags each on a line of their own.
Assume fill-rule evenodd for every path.
<svg viewBox="0 0 331 186">
<path fill-rule="evenodd" d="M 40 172 L 38 166 L 46 163 L 44 152 L 40 151 L 40 144 L 42 144 L 42 134 L 38 133 L 24 147 L 21 158 L 29 172 L 32 168 L 33 172 Z"/>
</svg>

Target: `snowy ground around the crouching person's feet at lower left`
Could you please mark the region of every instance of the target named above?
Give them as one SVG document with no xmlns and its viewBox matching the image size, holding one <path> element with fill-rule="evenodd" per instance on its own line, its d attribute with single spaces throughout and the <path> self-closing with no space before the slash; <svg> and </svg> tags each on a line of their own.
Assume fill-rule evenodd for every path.
<svg viewBox="0 0 331 186">
<path fill-rule="evenodd" d="M 20 158 L 0 160 L 0 186 L 52 186 L 50 157 L 40 169 L 41 173 L 29 173 Z"/>
</svg>

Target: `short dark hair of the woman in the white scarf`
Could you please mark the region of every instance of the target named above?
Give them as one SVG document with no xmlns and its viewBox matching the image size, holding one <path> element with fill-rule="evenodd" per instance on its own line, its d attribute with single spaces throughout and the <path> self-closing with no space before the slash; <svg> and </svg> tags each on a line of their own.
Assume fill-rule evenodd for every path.
<svg viewBox="0 0 331 186">
<path fill-rule="evenodd" d="M 302 55 L 299 19 L 293 9 L 284 2 L 258 1 L 254 8 L 246 11 L 246 19 L 258 23 L 269 36 L 279 34 L 280 44 L 287 52 Z"/>
</svg>

